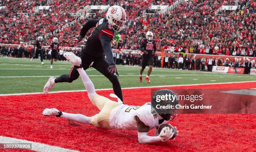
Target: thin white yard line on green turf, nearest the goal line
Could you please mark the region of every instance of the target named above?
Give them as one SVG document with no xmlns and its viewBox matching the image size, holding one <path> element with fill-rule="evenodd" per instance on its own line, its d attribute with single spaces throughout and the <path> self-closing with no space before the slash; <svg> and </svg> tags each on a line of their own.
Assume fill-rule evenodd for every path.
<svg viewBox="0 0 256 152">
<path fill-rule="evenodd" d="M 50 69 L 47 69 L 50 70 Z M 52 70 L 52 69 L 51 69 Z M 62 69 L 57 69 L 62 70 Z M 187 74 L 189 75 L 189 74 Z M 187 76 L 187 75 L 150 75 L 150 76 Z M 104 75 L 89 75 L 89 77 L 103 77 Z M 139 76 L 139 75 L 119 75 L 123 77 L 130 77 L 130 76 Z M 143 75 L 146 76 L 146 75 Z M 196 75 L 196 76 L 220 76 L 220 75 Z M 237 77 L 237 75 L 225 75 L 226 77 Z M 39 75 L 39 76 L 0 76 L 0 78 L 11 78 L 11 77 L 59 77 L 53 75 Z M 104 76 L 105 77 L 105 76 Z M 250 77 L 250 76 L 243 76 L 243 77 Z M 176 77 L 175 79 L 181 79 L 182 77 Z"/>
</svg>

